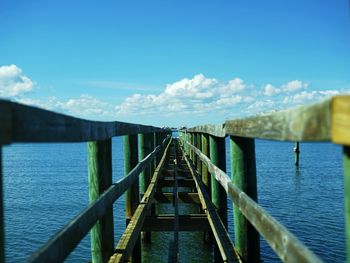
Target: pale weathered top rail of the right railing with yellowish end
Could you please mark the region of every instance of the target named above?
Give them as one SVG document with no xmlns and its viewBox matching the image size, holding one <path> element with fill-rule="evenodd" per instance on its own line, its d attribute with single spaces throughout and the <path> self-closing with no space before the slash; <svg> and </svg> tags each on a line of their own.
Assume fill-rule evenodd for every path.
<svg viewBox="0 0 350 263">
<path fill-rule="evenodd" d="M 187 131 L 217 137 L 233 135 L 278 141 L 332 141 L 350 145 L 350 96 L 335 96 L 311 105 L 227 120 L 224 125 L 196 126 Z"/>
</svg>

